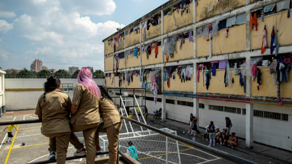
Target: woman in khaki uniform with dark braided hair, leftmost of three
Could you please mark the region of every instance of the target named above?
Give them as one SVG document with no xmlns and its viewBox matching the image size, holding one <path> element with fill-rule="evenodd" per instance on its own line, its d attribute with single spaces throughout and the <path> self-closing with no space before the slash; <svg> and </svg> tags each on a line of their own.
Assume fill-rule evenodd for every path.
<svg viewBox="0 0 292 164">
<path fill-rule="evenodd" d="M 71 133 L 68 117 L 71 100 L 60 91 L 61 81 L 56 76 L 47 78 L 44 89 L 45 93 L 38 99 L 35 114 L 42 119 L 41 134 L 50 138 L 49 159 L 55 159 L 57 152 L 57 164 L 64 164 Z"/>
</svg>

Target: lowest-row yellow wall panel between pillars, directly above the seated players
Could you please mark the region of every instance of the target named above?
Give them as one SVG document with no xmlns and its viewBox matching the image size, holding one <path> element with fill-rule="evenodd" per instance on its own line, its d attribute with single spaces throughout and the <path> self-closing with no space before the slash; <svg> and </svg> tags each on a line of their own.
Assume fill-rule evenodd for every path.
<svg viewBox="0 0 292 164">
<path fill-rule="evenodd" d="M 198 72 L 196 72 L 197 74 Z M 239 85 L 239 75 L 234 75 L 234 69 L 231 69 L 231 79 L 234 79 L 234 83 L 231 83 L 230 87 L 225 87 L 224 83 L 225 70 L 216 70 L 216 76 L 212 76 L 210 79 L 209 89 L 206 88 L 205 74 L 202 75 L 200 71 L 199 82 L 197 82 L 197 93 L 212 93 L 212 94 L 231 94 L 245 96 L 243 92 L 243 86 Z M 204 84 L 204 85 L 203 85 Z"/>
</svg>

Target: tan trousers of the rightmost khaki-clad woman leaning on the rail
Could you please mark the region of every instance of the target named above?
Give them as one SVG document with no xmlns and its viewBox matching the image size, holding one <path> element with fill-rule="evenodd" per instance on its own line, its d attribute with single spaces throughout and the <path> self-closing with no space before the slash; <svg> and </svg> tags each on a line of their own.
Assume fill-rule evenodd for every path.
<svg viewBox="0 0 292 164">
<path fill-rule="evenodd" d="M 116 164 L 118 153 L 119 132 L 122 129 L 122 122 L 116 123 L 112 126 L 103 129 L 103 123 L 98 126 L 97 133 L 95 134 L 95 145 L 99 147 L 99 132 L 106 132 L 109 140 L 109 162 L 108 164 Z"/>
</svg>

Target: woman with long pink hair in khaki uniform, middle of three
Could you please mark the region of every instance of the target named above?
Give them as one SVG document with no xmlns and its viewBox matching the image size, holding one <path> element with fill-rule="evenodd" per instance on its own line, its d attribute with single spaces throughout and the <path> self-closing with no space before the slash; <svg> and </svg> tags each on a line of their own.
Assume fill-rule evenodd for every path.
<svg viewBox="0 0 292 164">
<path fill-rule="evenodd" d="M 96 146 L 94 137 L 100 122 L 99 98 L 101 92 L 92 79 L 89 69 L 80 70 L 78 76 L 79 84 L 76 85 L 71 107 L 71 130 L 72 132 L 82 131 L 85 141 L 86 163 L 94 164 Z M 74 142 L 74 141 L 73 141 Z M 77 150 L 74 155 L 84 152 L 85 149 Z M 77 155 L 78 156 L 78 155 Z"/>
</svg>

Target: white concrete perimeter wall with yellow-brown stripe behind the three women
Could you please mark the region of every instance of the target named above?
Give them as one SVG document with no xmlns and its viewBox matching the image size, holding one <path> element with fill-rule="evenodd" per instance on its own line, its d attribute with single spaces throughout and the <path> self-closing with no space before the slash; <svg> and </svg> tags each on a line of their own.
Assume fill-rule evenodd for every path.
<svg viewBox="0 0 292 164">
<path fill-rule="evenodd" d="M 77 79 L 60 79 L 61 83 L 78 84 Z M 98 85 L 105 86 L 105 79 L 93 79 Z M 46 79 L 5 79 L 6 111 L 35 109 L 37 100 L 44 93 L 43 85 Z M 71 99 L 73 94 L 68 94 Z"/>
</svg>

